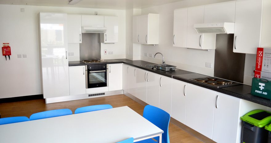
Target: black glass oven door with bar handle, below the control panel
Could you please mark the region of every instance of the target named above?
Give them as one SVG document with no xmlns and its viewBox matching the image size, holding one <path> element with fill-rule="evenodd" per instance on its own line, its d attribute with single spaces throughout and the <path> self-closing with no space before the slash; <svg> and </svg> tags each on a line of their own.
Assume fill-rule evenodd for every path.
<svg viewBox="0 0 271 143">
<path fill-rule="evenodd" d="M 98 88 L 107 86 L 107 69 L 88 70 L 87 88 Z"/>
</svg>

